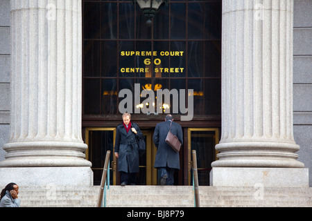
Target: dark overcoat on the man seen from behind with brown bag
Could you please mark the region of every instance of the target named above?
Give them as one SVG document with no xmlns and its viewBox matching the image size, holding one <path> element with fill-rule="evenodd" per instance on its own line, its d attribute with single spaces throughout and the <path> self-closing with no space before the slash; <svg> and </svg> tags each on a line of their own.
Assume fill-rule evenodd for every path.
<svg viewBox="0 0 312 221">
<path fill-rule="evenodd" d="M 157 147 L 157 153 L 155 157 L 155 168 L 166 167 L 172 169 L 180 169 L 180 157 L 179 153 L 173 151 L 171 146 L 166 143 L 166 136 L 169 131 L 171 121 L 161 122 L 156 125 L 153 135 L 153 141 Z M 171 133 L 177 136 L 181 144 L 183 144 L 183 133 L 180 124 L 172 122 Z"/>
</svg>

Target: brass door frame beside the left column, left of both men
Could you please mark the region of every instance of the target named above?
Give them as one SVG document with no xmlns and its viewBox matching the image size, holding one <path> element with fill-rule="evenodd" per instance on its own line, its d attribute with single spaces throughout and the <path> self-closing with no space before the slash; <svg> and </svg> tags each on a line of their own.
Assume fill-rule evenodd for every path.
<svg viewBox="0 0 312 221">
<path fill-rule="evenodd" d="M 111 162 L 113 171 L 113 185 L 116 185 L 116 156 L 115 156 L 115 138 L 116 138 L 116 128 L 115 127 L 88 127 L 85 128 L 85 144 L 87 144 L 87 150 L 85 151 L 85 158 L 89 160 L 89 131 L 113 131 L 113 161 Z"/>
</svg>

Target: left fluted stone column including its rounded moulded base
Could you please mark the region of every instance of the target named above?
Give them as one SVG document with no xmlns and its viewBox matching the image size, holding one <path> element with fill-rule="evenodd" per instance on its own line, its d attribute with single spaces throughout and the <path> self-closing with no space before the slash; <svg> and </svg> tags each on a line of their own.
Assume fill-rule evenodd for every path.
<svg viewBox="0 0 312 221">
<path fill-rule="evenodd" d="M 0 166 L 91 166 L 81 136 L 81 1 L 10 6 L 10 140 Z"/>
</svg>

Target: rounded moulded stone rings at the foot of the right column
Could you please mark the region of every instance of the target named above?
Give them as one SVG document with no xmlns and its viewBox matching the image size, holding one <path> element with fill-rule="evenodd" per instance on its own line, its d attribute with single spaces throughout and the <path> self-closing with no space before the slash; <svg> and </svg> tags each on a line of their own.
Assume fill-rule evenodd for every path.
<svg viewBox="0 0 312 221">
<path fill-rule="evenodd" d="M 223 142 L 216 145 L 219 160 L 212 167 L 304 168 L 295 142 Z"/>
</svg>

